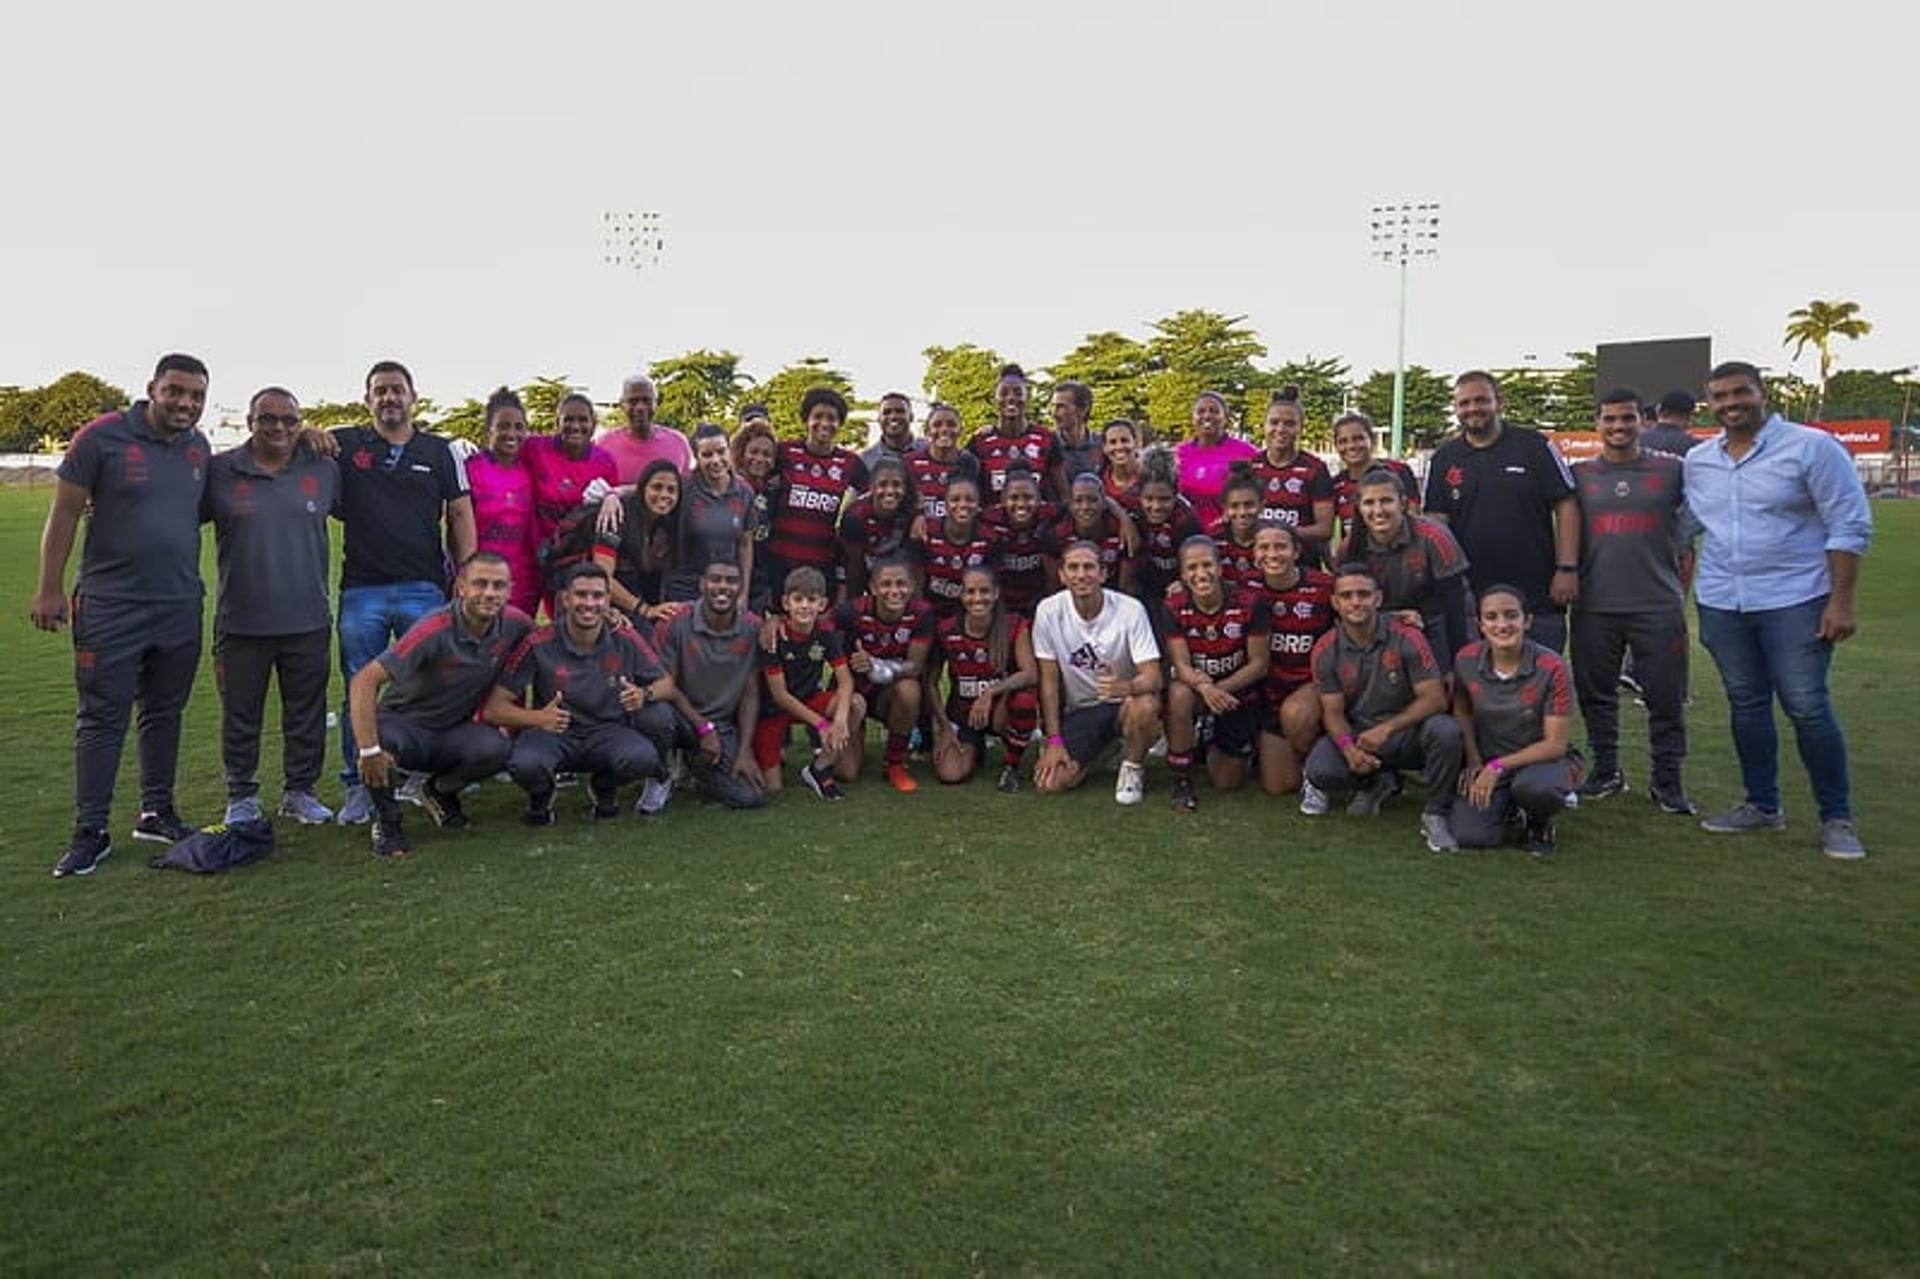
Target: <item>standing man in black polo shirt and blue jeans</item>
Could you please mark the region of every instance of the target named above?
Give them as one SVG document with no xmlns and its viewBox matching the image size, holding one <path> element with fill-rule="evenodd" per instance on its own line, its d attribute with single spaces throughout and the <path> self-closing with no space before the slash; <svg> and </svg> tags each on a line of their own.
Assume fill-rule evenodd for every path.
<svg viewBox="0 0 1920 1279">
<path fill-rule="evenodd" d="M 340 674 L 348 684 L 388 641 L 447 599 L 453 563 L 474 551 L 474 507 L 467 471 L 440 436 L 413 426 L 413 374 L 382 359 L 367 373 L 372 426 L 342 426 Z M 442 542 L 442 520 L 445 540 Z M 342 824 L 367 822 L 372 797 L 359 782 L 351 714 L 340 722 Z"/>
</svg>

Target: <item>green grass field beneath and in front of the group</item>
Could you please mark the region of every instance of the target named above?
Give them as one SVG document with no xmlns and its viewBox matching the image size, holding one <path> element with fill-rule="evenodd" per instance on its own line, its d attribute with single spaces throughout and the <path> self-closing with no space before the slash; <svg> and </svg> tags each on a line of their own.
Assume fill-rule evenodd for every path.
<svg viewBox="0 0 1920 1279">
<path fill-rule="evenodd" d="M 0 494 L 0 1271 L 1920 1271 L 1920 503 L 1837 663 L 1872 857 L 1636 793 L 1561 855 L 1405 801 L 874 784 L 163 876 L 71 822 L 46 494 Z M 211 574 L 209 574 L 211 580 Z M 17 647 L 15 647 L 17 645 Z M 1690 785 L 1738 799 L 1697 657 Z M 182 810 L 219 814 L 202 668 Z M 263 778 L 276 795 L 276 753 Z M 332 782 L 326 784 L 332 787 Z M 323 797 L 332 799 L 334 789 Z"/>
</svg>

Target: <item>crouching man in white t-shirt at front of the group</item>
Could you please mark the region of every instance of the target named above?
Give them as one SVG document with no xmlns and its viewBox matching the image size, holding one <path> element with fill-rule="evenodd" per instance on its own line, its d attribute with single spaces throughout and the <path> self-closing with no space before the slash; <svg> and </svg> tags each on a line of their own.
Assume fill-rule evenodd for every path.
<svg viewBox="0 0 1920 1279">
<path fill-rule="evenodd" d="M 1137 805 L 1146 791 L 1146 749 L 1160 737 L 1160 643 L 1146 607 L 1106 590 L 1106 567 L 1091 542 L 1068 545 L 1060 582 L 1066 590 L 1043 599 L 1033 616 L 1046 734 L 1033 784 L 1041 793 L 1073 789 L 1102 747 L 1119 737 L 1114 799 Z"/>
</svg>

